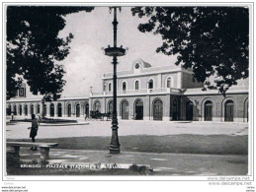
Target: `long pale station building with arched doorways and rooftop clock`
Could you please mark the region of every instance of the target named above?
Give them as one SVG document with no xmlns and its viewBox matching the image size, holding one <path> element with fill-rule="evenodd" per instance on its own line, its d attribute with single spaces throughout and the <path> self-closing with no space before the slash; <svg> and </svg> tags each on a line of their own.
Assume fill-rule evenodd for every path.
<svg viewBox="0 0 256 192">
<path fill-rule="evenodd" d="M 117 74 L 117 112 L 120 120 L 248 121 L 248 87 L 233 86 L 225 96 L 216 90 L 202 91 L 192 70 L 181 66 L 152 67 L 136 59 L 128 71 Z M 21 91 L 21 89 L 23 91 Z M 46 117 L 84 118 L 90 110 L 113 110 L 113 73 L 103 74 L 102 92 L 90 96 L 66 96 L 43 103 L 28 98 L 26 85 L 17 97 L 7 100 L 7 115 L 30 118 L 44 111 Z M 43 110 L 44 107 L 44 110 Z"/>
</svg>

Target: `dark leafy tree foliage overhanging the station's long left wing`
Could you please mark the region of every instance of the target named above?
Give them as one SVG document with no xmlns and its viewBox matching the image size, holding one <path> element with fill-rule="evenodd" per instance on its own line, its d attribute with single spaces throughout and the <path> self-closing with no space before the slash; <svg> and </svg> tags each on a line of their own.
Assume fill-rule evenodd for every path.
<svg viewBox="0 0 256 192">
<path fill-rule="evenodd" d="M 23 80 L 33 95 L 57 99 L 65 81 L 58 64 L 69 53 L 73 34 L 58 32 L 65 27 L 64 16 L 93 7 L 8 6 L 7 7 L 7 99 L 16 96 Z"/>
</svg>

